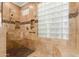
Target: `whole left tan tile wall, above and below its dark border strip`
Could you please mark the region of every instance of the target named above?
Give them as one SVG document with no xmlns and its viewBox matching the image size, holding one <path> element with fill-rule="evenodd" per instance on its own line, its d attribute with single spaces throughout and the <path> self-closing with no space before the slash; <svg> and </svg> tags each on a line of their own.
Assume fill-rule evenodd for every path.
<svg viewBox="0 0 79 59">
<path fill-rule="evenodd" d="M 13 13 L 13 19 L 11 18 L 11 13 L 10 10 L 14 10 Z M 20 7 L 12 4 L 11 2 L 4 2 L 3 3 L 3 20 L 6 21 L 19 21 L 20 20 Z M 3 22 L 4 23 L 4 22 Z M 5 27 L 7 31 L 12 31 L 15 30 L 15 25 L 14 24 L 10 24 L 10 23 L 5 23 Z"/>
</svg>

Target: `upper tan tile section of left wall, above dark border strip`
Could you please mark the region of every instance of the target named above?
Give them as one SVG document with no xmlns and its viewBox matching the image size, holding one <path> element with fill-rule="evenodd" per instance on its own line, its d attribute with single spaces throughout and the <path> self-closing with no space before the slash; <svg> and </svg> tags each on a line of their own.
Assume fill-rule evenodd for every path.
<svg viewBox="0 0 79 59">
<path fill-rule="evenodd" d="M 3 3 L 3 19 L 10 20 L 10 12 L 13 10 L 13 19 L 12 21 L 20 20 L 20 7 L 14 5 L 11 2 L 4 2 Z"/>
</svg>

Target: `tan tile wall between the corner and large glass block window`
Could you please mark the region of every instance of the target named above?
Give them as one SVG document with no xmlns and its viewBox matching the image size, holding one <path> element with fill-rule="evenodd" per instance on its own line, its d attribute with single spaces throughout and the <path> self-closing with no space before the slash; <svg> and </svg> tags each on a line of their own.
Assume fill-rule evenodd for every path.
<svg viewBox="0 0 79 59">
<path fill-rule="evenodd" d="M 29 9 L 29 14 L 26 15 L 21 15 L 21 22 L 27 22 L 27 21 L 31 21 L 32 19 L 37 20 L 37 3 L 28 3 L 26 5 L 24 5 L 21 10 L 24 9 Z M 23 28 L 24 27 L 24 28 Z M 28 30 L 27 30 L 28 27 Z M 25 24 L 25 25 L 21 25 L 21 29 L 22 31 L 25 31 L 24 34 L 28 33 L 28 37 L 29 39 L 36 39 L 37 37 L 37 23 L 35 23 L 34 25 L 34 31 L 35 33 L 29 33 L 31 30 L 31 23 L 29 24 Z"/>
</svg>

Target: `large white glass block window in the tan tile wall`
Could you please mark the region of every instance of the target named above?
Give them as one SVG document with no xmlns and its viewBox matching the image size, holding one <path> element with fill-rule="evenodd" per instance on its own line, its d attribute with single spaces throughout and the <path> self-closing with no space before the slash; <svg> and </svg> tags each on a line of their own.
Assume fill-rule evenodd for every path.
<svg viewBox="0 0 79 59">
<path fill-rule="evenodd" d="M 69 7 L 64 2 L 40 3 L 38 5 L 38 36 L 68 39 Z"/>
</svg>

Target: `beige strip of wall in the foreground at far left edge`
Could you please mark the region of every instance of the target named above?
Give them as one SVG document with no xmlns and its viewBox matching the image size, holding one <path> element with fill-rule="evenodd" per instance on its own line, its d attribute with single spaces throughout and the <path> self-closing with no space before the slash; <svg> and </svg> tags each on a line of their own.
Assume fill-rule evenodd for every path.
<svg viewBox="0 0 79 59">
<path fill-rule="evenodd" d="M 1 11 L 0 11 L 1 17 Z M 1 21 L 1 19 L 0 19 Z M 0 56 L 6 56 L 6 31 L 0 22 Z"/>
</svg>

